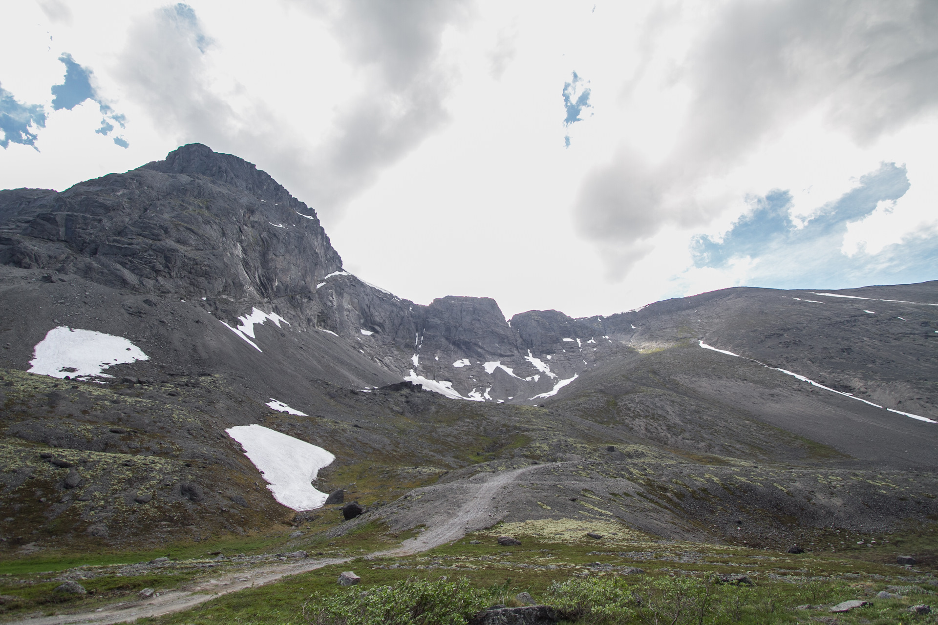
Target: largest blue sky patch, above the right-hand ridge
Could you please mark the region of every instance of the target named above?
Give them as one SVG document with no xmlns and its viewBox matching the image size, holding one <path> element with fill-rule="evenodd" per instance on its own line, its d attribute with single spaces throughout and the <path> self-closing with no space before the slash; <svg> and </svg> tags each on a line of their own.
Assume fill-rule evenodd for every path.
<svg viewBox="0 0 938 625">
<path fill-rule="evenodd" d="M 934 279 L 938 237 L 912 236 L 875 254 L 853 256 L 840 251 L 847 226 L 870 216 L 880 201 L 895 201 L 909 189 L 904 167 L 883 163 L 861 176 L 859 184 L 825 204 L 802 228 L 791 218 L 792 197 L 773 190 L 751 198 L 749 214 L 741 216 L 717 241 L 707 235 L 691 245 L 694 265 L 728 268 L 748 260 L 750 286 L 776 289 L 849 288 Z"/>
</svg>

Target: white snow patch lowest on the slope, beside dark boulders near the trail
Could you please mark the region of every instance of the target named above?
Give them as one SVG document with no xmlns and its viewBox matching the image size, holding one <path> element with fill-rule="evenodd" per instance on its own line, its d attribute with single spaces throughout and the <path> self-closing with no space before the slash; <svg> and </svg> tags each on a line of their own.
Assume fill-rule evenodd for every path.
<svg viewBox="0 0 938 625">
<path fill-rule="evenodd" d="M 235 425 L 225 432 L 241 443 L 248 459 L 263 472 L 274 499 L 294 510 L 323 505 L 327 495 L 313 488 L 311 482 L 319 469 L 332 464 L 335 455 L 263 425 Z"/>
</svg>

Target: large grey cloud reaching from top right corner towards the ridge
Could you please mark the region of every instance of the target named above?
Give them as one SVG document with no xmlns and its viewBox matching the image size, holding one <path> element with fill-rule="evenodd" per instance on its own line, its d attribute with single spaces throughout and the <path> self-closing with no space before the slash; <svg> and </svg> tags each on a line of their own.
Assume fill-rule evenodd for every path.
<svg viewBox="0 0 938 625">
<path fill-rule="evenodd" d="M 662 16 L 654 14 L 654 32 Z M 818 106 L 859 143 L 934 112 L 938 4 L 737 0 L 687 58 L 676 80 L 690 90 L 691 104 L 671 155 L 648 167 L 622 150 L 584 180 L 580 228 L 609 248 L 607 258 L 666 225 L 707 223 L 724 207 L 681 199 Z M 619 256 L 629 260 L 610 267 L 613 275 L 638 260 Z"/>
</svg>

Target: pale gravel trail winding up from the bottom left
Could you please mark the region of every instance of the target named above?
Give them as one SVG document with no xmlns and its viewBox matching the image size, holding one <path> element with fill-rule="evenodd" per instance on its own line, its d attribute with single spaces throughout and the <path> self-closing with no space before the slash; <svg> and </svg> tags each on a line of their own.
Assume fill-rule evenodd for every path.
<svg viewBox="0 0 938 625">
<path fill-rule="evenodd" d="M 559 463 L 554 463 L 559 464 Z M 493 474 L 485 481 L 471 483 L 468 480 L 461 484 L 470 495 L 470 498 L 461 505 L 456 513 L 446 517 L 443 523 L 428 528 L 415 538 L 407 539 L 400 547 L 387 551 L 372 553 L 366 558 L 385 558 L 395 556 L 412 556 L 427 551 L 441 544 L 457 541 L 465 536 L 467 531 L 492 527 L 501 520 L 504 513 L 496 514 L 492 500 L 497 493 L 515 482 L 522 474 L 534 469 L 545 469 L 554 466 L 531 465 L 521 469 L 512 469 Z M 474 492 L 471 492 L 474 491 Z M 355 558 L 360 558 L 356 556 Z M 284 564 L 271 564 L 269 566 L 229 573 L 217 579 L 208 579 L 199 582 L 189 590 L 170 590 L 142 601 L 114 603 L 95 612 L 77 612 L 54 617 L 24 618 L 10 621 L 23 625 L 67 625 L 68 623 L 95 623 L 96 625 L 109 625 L 110 623 L 123 623 L 137 618 L 161 617 L 174 612 L 181 612 L 205 603 L 222 595 L 231 594 L 246 588 L 264 586 L 276 582 L 284 575 L 295 575 L 321 569 L 331 564 L 341 564 L 353 558 L 306 558 L 298 562 Z"/>
</svg>

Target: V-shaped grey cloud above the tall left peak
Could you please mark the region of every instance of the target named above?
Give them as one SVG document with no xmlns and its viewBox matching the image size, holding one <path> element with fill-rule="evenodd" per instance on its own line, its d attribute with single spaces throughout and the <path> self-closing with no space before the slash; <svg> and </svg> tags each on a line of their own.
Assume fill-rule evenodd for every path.
<svg viewBox="0 0 938 625">
<path fill-rule="evenodd" d="M 133 27 L 120 73 L 131 95 L 180 142 L 260 162 L 282 184 L 325 214 L 340 213 L 388 165 L 446 123 L 453 77 L 441 63 L 442 33 L 467 17 L 465 2 L 296 2 L 327 21 L 348 59 L 369 73 L 368 88 L 348 104 L 320 144 L 295 139 L 260 100 L 235 112 L 211 92 L 204 52 L 211 40 L 186 5 L 159 9 Z M 314 76 L 306 79 L 314 81 Z"/>
</svg>

